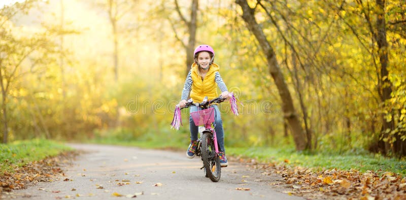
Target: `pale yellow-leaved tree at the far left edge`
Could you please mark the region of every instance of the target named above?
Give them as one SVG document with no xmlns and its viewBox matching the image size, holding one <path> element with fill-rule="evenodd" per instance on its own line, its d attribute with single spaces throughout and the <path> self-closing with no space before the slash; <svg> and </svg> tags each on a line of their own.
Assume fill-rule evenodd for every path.
<svg viewBox="0 0 406 200">
<path fill-rule="evenodd" d="M 3 143 L 8 142 L 8 113 L 9 102 L 14 98 L 10 91 L 14 84 L 23 76 L 36 73 L 44 68 L 46 63 L 52 62 L 52 58 L 44 56 L 55 52 L 54 43 L 50 40 L 54 33 L 45 30 L 29 37 L 22 35 L 23 31 L 16 27 L 11 19 L 17 14 L 26 13 L 35 6 L 36 1 L 16 3 L 5 6 L 0 10 L 0 86 L 2 90 L 2 121 Z"/>
</svg>

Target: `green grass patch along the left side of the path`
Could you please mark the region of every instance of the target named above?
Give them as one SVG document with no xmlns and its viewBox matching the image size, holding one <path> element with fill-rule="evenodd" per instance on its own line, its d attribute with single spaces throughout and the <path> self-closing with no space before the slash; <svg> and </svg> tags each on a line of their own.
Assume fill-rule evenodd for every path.
<svg viewBox="0 0 406 200">
<path fill-rule="evenodd" d="M 15 166 L 22 166 L 35 160 L 42 160 L 66 150 L 71 150 L 71 148 L 54 141 L 42 139 L 0 144 L 1 174 L 13 172 Z"/>
</svg>

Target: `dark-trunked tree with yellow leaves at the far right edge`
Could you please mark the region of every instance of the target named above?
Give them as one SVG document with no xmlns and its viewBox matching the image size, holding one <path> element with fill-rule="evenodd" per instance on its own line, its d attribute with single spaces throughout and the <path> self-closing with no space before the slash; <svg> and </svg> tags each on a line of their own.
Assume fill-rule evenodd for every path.
<svg viewBox="0 0 406 200">
<path fill-rule="evenodd" d="M 389 5 L 389 8 L 387 5 Z M 403 13 L 405 8 L 402 7 L 401 1 L 386 2 L 376 0 L 375 2 L 350 2 L 337 10 L 342 11 L 339 15 L 340 19 L 349 27 L 352 34 L 357 37 L 358 42 L 369 53 L 370 64 L 375 68 L 381 131 L 378 134 L 376 144 L 372 144 L 370 148 L 385 154 L 392 152 L 398 155 L 406 155 L 404 130 L 402 126 L 397 127 L 402 124 L 400 123 L 402 119 L 399 118 L 402 108 L 392 110 L 388 107 L 393 92 L 397 93 L 393 90 L 391 80 L 398 73 L 396 66 L 393 64 L 395 61 L 391 61 L 389 55 L 391 51 L 404 45 L 402 41 L 406 36 L 402 27 L 405 27 L 406 22 L 404 16 L 402 17 L 400 13 Z M 346 15 L 346 12 L 349 14 Z M 358 23 L 355 24 L 354 22 Z M 364 25 L 360 26 L 359 24 Z M 388 33 L 390 34 L 389 39 Z"/>
</svg>

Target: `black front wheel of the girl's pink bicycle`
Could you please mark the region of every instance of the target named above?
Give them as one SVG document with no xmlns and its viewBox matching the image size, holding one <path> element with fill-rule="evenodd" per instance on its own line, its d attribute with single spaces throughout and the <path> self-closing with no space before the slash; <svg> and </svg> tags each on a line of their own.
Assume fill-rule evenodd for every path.
<svg viewBox="0 0 406 200">
<path fill-rule="evenodd" d="M 212 141 L 212 133 L 209 131 L 203 132 L 201 137 L 201 159 L 205 165 L 206 175 L 213 182 L 218 182 L 221 176 L 220 158 L 216 154 L 214 143 Z"/>
</svg>

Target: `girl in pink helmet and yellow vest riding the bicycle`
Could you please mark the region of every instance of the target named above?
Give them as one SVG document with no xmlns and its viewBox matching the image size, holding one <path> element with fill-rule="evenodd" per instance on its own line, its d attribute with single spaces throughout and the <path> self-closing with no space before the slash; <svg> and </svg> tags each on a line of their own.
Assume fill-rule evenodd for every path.
<svg viewBox="0 0 406 200">
<path fill-rule="evenodd" d="M 194 103 L 200 103 L 203 101 L 205 96 L 209 99 L 216 98 L 218 96 L 216 90 L 216 83 L 221 90 L 221 96 L 227 98 L 230 94 L 227 91 L 227 87 L 221 79 L 219 74 L 219 66 L 213 62 L 214 61 L 214 50 L 209 45 L 200 45 L 194 50 L 194 63 L 192 64 L 192 69 L 186 77 L 185 85 L 182 90 L 181 101 L 179 102 L 180 107 L 184 107 L 187 103 L 186 98 L 190 92 L 190 98 Z M 227 158 L 225 157 L 224 149 L 224 130 L 223 121 L 221 120 L 220 111 L 217 105 L 213 105 L 216 112 L 216 134 L 217 141 L 219 144 L 219 156 L 221 166 L 227 166 Z M 198 111 L 199 108 L 196 106 L 190 107 L 190 113 Z M 187 149 L 186 156 L 188 158 L 193 158 L 196 154 L 197 148 L 197 126 L 193 123 L 193 119 L 189 116 L 189 127 L 190 127 L 190 145 Z"/>
</svg>

